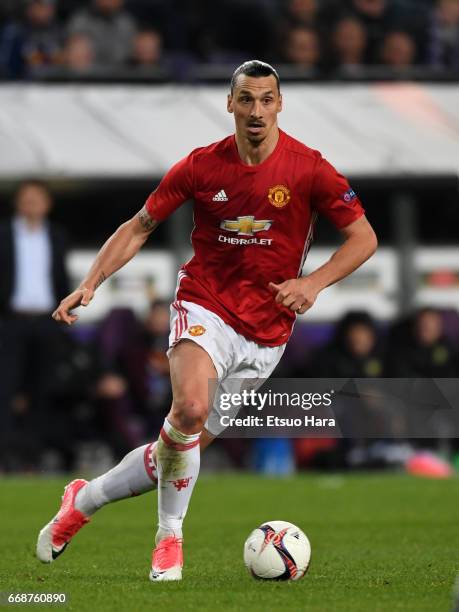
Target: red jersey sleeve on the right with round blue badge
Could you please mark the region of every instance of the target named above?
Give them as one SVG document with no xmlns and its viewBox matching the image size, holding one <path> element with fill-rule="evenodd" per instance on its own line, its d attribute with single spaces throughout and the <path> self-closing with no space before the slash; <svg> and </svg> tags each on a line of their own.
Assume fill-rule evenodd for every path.
<svg viewBox="0 0 459 612">
<path fill-rule="evenodd" d="M 341 229 L 357 221 L 365 210 L 347 179 L 322 156 L 313 178 L 311 203 L 313 210 L 324 215 Z"/>
</svg>

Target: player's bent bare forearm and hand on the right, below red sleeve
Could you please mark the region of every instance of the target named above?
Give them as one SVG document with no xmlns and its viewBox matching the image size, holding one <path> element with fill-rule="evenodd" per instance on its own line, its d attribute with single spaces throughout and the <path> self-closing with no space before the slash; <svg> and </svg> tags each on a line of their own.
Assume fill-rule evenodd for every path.
<svg viewBox="0 0 459 612">
<path fill-rule="evenodd" d="M 378 241 L 366 217 L 360 217 L 341 232 L 344 243 L 323 266 L 302 278 L 290 279 L 279 285 L 270 283 L 278 304 L 303 314 L 311 308 L 325 287 L 354 272 L 376 251 Z"/>
</svg>

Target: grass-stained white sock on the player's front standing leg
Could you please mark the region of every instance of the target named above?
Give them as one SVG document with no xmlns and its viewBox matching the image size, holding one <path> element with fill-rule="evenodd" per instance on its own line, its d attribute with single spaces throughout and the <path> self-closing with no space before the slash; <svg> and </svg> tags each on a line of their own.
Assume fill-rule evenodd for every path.
<svg viewBox="0 0 459 612">
<path fill-rule="evenodd" d="M 182 537 L 182 525 L 199 475 L 200 433 L 186 435 L 167 419 L 158 439 L 158 513 L 156 543 L 167 535 Z"/>
</svg>

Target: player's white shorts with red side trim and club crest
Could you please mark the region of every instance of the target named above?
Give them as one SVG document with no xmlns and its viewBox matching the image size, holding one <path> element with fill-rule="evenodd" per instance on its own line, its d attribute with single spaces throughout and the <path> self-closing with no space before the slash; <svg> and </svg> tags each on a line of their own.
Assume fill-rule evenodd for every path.
<svg viewBox="0 0 459 612">
<path fill-rule="evenodd" d="M 168 356 L 180 340 L 192 340 L 199 344 L 208 353 L 217 371 L 218 390 L 205 425 L 214 436 L 225 429 L 220 424 L 220 416 L 228 414 L 220 413 L 221 393 L 256 390 L 271 376 L 285 350 L 285 344 L 271 347 L 248 340 L 215 313 L 186 301 L 176 301 L 171 305 Z"/>
</svg>

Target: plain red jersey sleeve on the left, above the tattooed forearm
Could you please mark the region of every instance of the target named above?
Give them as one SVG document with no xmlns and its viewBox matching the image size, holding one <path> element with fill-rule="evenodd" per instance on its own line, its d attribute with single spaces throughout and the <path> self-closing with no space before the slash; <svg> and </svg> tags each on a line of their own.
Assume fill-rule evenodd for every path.
<svg viewBox="0 0 459 612">
<path fill-rule="evenodd" d="M 177 162 L 145 202 L 148 214 L 164 221 L 181 204 L 193 197 L 193 154 Z"/>
</svg>

